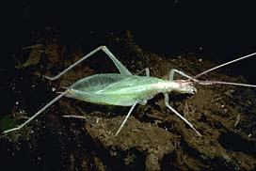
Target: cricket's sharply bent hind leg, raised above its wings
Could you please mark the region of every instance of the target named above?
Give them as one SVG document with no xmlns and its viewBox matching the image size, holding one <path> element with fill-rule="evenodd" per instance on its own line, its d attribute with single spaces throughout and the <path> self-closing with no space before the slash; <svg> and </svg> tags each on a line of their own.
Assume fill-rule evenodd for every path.
<svg viewBox="0 0 256 171">
<path fill-rule="evenodd" d="M 56 75 L 55 77 L 48 77 L 43 75 L 44 78 L 47 78 L 49 80 L 56 80 L 57 78 L 59 78 L 61 75 L 63 75 L 64 73 L 66 73 L 67 71 L 71 70 L 73 67 L 75 67 L 76 65 L 78 65 L 79 63 L 81 63 L 83 60 L 87 59 L 90 55 L 97 53 L 98 51 L 103 50 L 105 54 L 107 54 L 110 59 L 115 63 L 116 67 L 120 70 L 121 74 L 126 74 L 126 75 L 132 75 L 132 73 L 127 70 L 121 63 L 120 61 L 114 56 L 114 54 L 112 54 L 107 47 L 105 46 L 100 46 L 97 49 L 93 50 L 92 52 L 88 53 L 87 55 L 85 55 L 84 57 L 82 57 L 81 59 L 79 59 L 78 61 L 76 61 L 75 63 L 73 63 L 69 68 L 63 70 L 62 72 L 60 72 L 58 75 Z"/>
</svg>

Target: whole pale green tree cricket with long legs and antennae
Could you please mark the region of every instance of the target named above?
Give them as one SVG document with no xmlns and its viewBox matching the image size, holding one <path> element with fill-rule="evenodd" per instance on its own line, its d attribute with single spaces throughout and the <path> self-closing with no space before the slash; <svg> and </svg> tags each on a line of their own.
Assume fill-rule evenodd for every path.
<svg viewBox="0 0 256 171">
<path fill-rule="evenodd" d="M 240 57 L 238 59 L 232 60 L 225 64 L 219 65 L 213 69 L 205 70 L 200 74 L 191 77 L 185 74 L 181 70 L 172 69 L 169 72 L 169 79 L 162 80 L 156 77 L 150 76 L 150 70 L 145 69 L 146 76 L 138 76 L 133 75 L 129 70 L 127 70 L 120 61 L 112 54 L 106 46 L 100 46 L 97 49 L 93 50 L 89 54 L 80 58 L 78 61 L 73 63 L 69 68 L 63 70 L 55 77 L 44 76 L 45 78 L 54 81 L 60 76 L 62 76 L 67 71 L 71 70 L 73 67 L 87 59 L 90 55 L 95 54 L 99 51 L 104 51 L 110 59 L 114 62 L 115 66 L 118 68 L 120 73 L 103 73 L 103 74 L 95 74 L 78 80 L 76 83 L 67 88 L 65 92 L 62 92 L 59 96 L 57 96 L 53 101 L 47 103 L 44 107 L 40 109 L 38 113 L 36 113 L 33 117 L 30 117 L 24 124 L 20 125 L 17 128 L 10 129 L 7 132 L 17 131 L 23 128 L 28 122 L 30 122 L 33 118 L 40 115 L 46 108 L 51 106 L 54 102 L 58 101 L 63 96 L 81 100 L 81 101 L 89 101 L 92 103 L 98 104 L 108 104 L 108 105 L 120 105 L 120 106 L 132 106 L 127 116 L 122 121 L 118 132 L 116 132 L 116 136 L 120 133 L 122 127 L 126 123 L 127 119 L 130 117 L 133 112 L 136 104 L 145 105 L 148 100 L 151 100 L 156 94 L 163 93 L 165 96 L 165 104 L 173 113 L 175 113 L 178 117 L 182 118 L 184 122 L 189 125 L 189 127 L 194 130 L 199 136 L 201 136 L 200 132 L 198 132 L 194 126 L 187 121 L 182 115 L 180 115 L 174 108 L 169 105 L 169 97 L 168 93 L 171 91 L 176 91 L 181 94 L 195 94 L 197 92 L 197 88 L 194 86 L 195 83 L 200 85 L 213 85 L 213 84 L 224 84 L 224 85 L 243 85 L 243 86 L 252 86 L 256 87 L 256 85 L 245 85 L 245 84 L 236 84 L 236 83 L 227 83 L 227 82 L 217 82 L 217 81 L 199 81 L 196 78 L 200 77 L 202 74 L 205 74 L 209 71 L 216 70 L 220 67 L 229 65 L 238 60 L 242 60 L 254 54 L 248 54 L 246 56 Z M 142 70 L 144 71 L 144 70 Z M 179 73 L 180 75 L 188 78 L 188 80 L 173 80 L 174 72 Z"/>
</svg>

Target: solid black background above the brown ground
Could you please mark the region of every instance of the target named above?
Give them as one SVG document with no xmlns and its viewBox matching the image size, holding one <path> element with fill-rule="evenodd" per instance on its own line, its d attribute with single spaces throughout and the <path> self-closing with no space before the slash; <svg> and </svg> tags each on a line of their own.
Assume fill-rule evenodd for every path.
<svg viewBox="0 0 256 171">
<path fill-rule="evenodd" d="M 61 43 L 104 44 L 105 34 L 132 30 L 136 44 L 165 56 L 207 54 L 219 62 L 256 52 L 254 1 L 8 1 L 1 4 L 1 68 L 15 48 L 33 44 L 31 30 L 54 23 Z M 93 35 L 93 39 L 91 38 Z M 200 51 L 200 47 L 202 50 Z M 254 83 L 255 61 L 234 64 Z"/>
</svg>

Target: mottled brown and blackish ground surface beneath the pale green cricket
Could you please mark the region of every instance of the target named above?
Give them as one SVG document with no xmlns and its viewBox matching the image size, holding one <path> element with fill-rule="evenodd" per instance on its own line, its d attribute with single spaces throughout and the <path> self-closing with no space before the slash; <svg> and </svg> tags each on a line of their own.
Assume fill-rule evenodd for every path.
<svg viewBox="0 0 256 171">
<path fill-rule="evenodd" d="M 45 35 L 45 37 L 50 37 Z M 168 79 L 170 69 L 196 75 L 216 67 L 199 54 L 160 56 L 136 44 L 131 31 L 108 34 L 105 45 L 133 73 L 145 68 Z M 56 97 L 56 92 L 89 75 L 118 72 L 104 53 L 97 53 L 56 81 L 54 76 L 84 54 L 76 46 L 40 39 L 16 53 L 16 68 L 1 70 L 5 93 L 1 129 L 24 123 Z M 17 55 L 19 54 L 19 55 Z M 97 58 L 97 59 L 96 59 Z M 140 74 L 141 75 L 141 74 Z M 174 79 L 185 79 L 175 74 Z M 242 76 L 219 69 L 201 80 L 247 84 Z M 255 88 L 199 85 L 195 95 L 169 93 L 170 104 L 201 133 L 198 136 L 156 95 L 137 105 L 120 134 L 115 133 L 130 107 L 107 106 L 62 98 L 23 129 L 2 134 L 1 167 L 8 170 L 252 170 L 255 169 Z M 85 118 L 62 117 L 79 116 Z M 10 125 L 10 126 L 9 126 Z"/>
</svg>

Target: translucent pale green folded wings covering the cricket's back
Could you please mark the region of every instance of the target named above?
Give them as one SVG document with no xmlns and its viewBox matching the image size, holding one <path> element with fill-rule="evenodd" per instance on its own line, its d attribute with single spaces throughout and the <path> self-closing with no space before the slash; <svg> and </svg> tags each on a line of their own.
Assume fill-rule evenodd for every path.
<svg viewBox="0 0 256 171">
<path fill-rule="evenodd" d="M 77 81 L 67 97 L 99 104 L 131 106 L 136 101 L 145 104 L 158 91 L 152 85 L 162 81 L 155 77 L 98 74 Z"/>
</svg>

